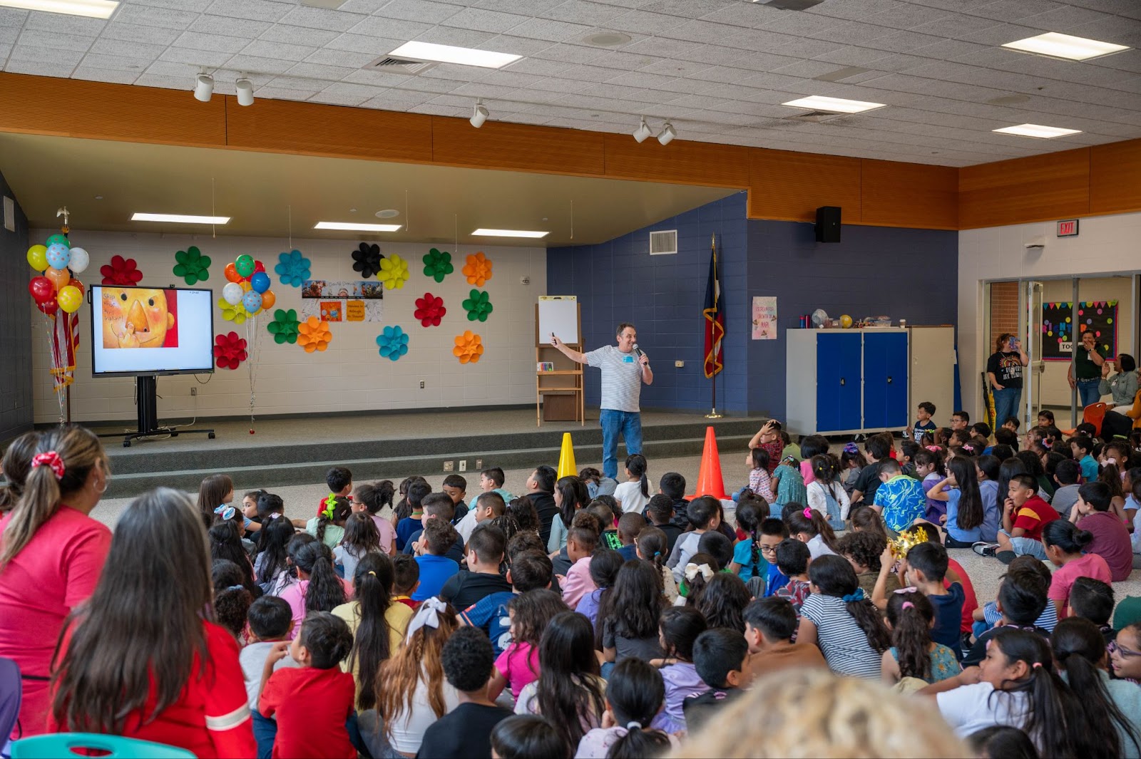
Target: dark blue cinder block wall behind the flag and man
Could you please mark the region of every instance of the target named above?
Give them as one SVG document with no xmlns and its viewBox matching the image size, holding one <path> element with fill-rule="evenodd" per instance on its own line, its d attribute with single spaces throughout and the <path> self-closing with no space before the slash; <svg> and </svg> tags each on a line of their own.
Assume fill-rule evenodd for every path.
<svg viewBox="0 0 1141 759">
<path fill-rule="evenodd" d="M 607 243 L 547 252 L 548 292 L 578 296 L 586 350 L 613 343 L 621 321 L 637 326 L 654 367 L 642 408 L 709 410 L 701 311 L 713 234 L 726 308 L 719 410 L 784 417 L 784 330 L 817 308 L 955 323 L 957 232 L 845 226 L 841 243 L 820 244 L 810 223 L 746 219 L 745 201 L 737 193 Z M 663 229 L 678 230 L 678 253 L 652 256 L 649 232 Z M 780 340 L 751 340 L 754 295 L 777 296 Z M 586 403 L 598 402 L 599 375 L 588 368 Z"/>
</svg>

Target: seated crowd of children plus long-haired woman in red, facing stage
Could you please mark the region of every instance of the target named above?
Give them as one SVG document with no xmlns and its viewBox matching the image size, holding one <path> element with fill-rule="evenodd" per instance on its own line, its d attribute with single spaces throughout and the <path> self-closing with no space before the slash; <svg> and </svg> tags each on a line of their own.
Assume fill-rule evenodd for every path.
<svg viewBox="0 0 1141 759">
<path fill-rule="evenodd" d="M 621 484 L 540 466 L 518 497 L 500 468 L 468 493 L 455 474 L 437 491 L 335 466 L 296 520 L 224 474 L 196 506 L 160 488 L 127 507 L 49 642 L 46 724 L 23 734 L 200 757 L 711 756 L 735 720 L 792 719 L 777 702 L 831 672 L 915 709 L 944 741 L 931 756 L 1141 758 L 1141 609 L 1115 615 L 1112 587 L 1141 554 L 1138 441 L 920 411 L 900 450 L 882 433 L 841 456 L 770 422 L 726 501 L 687 500 L 675 472 L 652 492 L 638 454 Z M 59 508 L 38 467 L 70 466 L 13 449 L 5 471 L 30 490 L 0 501 L 5 525 L 49 485 Z M 1008 565 L 995 598 L 955 548 Z"/>
</svg>

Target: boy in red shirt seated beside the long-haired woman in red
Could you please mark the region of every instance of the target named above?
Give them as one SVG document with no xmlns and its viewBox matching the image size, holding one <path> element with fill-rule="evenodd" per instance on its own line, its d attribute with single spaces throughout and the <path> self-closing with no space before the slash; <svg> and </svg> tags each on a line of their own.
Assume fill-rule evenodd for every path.
<svg viewBox="0 0 1141 759">
<path fill-rule="evenodd" d="M 353 713 L 356 685 L 340 662 L 353 648 L 353 632 L 345 620 L 330 612 L 305 618 L 293 643 L 275 643 L 261 671 L 258 711 L 277 718 L 273 759 L 329 757 L 356 759 L 346 721 Z M 300 664 L 280 669 L 286 651 Z"/>
</svg>

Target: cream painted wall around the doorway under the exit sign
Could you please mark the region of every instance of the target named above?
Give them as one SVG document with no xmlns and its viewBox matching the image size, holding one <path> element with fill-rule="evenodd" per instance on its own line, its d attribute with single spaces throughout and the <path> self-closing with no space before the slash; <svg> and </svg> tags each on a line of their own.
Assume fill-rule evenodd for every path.
<svg viewBox="0 0 1141 759">
<path fill-rule="evenodd" d="M 1073 296 L 1070 280 L 1051 283 L 1049 278 L 1083 277 L 1081 300 L 1119 301 L 1118 345 L 1119 350 L 1132 351 L 1135 320 L 1130 313 L 1130 279 L 1108 278 L 1107 275 L 1141 271 L 1141 256 L 1138 255 L 1141 214 L 1082 219 L 1079 229 L 1077 237 L 1057 237 L 1053 222 L 1041 222 L 958 232 L 958 368 L 963 405 L 972 416 L 981 408 L 980 373 L 994 350 L 993 345 L 985 344 L 985 280 L 1043 278 L 1047 279 L 1047 301 L 1069 301 Z M 1026 243 L 1037 237 L 1045 238 L 1045 247 L 1026 250 Z M 1046 403 L 1069 405 L 1066 369 L 1066 364 L 1047 362 L 1042 381 Z"/>
</svg>

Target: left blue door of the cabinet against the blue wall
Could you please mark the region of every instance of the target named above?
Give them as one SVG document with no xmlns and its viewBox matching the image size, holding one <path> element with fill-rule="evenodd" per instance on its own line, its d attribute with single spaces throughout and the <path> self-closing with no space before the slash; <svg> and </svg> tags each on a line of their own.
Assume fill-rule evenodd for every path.
<svg viewBox="0 0 1141 759">
<path fill-rule="evenodd" d="M 816 336 L 816 431 L 859 430 L 859 333 Z"/>
</svg>

